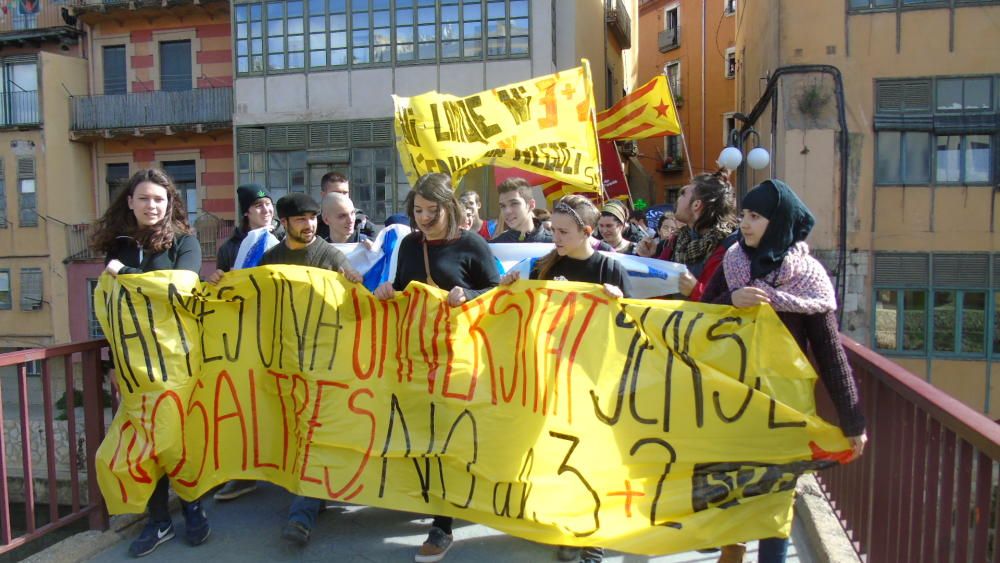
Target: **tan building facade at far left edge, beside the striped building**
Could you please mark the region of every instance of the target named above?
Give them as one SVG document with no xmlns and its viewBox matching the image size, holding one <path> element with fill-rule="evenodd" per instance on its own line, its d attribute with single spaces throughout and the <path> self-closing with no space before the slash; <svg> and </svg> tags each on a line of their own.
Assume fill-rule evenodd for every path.
<svg viewBox="0 0 1000 563">
<path fill-rule="evenodd" d="M 57 4 L 0 17 L 0 351 L 69 340 L 65 225 L 92 215 L 69 94 L 86 91 L 82 32 Z"/>
</svg>

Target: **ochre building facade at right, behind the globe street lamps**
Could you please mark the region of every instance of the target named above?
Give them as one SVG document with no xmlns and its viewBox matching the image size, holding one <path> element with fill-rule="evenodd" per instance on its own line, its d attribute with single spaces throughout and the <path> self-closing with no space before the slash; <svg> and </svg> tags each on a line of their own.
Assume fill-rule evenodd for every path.
<svg viewBox="0 0 1000 563">
<path fill-rule="evenodd" d="M 771 167 L 746 186 L 783 178 L 816 213 L 846 333 L 993 418 L 998 18 L 995 0 L 772 0 L 736 23 L 739 111 L 769 102 L 752 125 Z"/>
</svg>

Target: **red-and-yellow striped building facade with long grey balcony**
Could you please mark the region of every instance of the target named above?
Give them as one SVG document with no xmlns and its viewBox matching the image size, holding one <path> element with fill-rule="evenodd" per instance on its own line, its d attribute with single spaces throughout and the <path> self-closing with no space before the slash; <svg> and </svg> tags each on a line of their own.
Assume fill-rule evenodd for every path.
<svg viewBox="0 0 1000 563">
<path fill-rule="evenodd" d="M 81 2 L 89 87 L 70 100 L 68 138 L 88 154 L 91 215 L 69 225 L 69 329 L 100 336 L 91 299 L 103 261 L 90 223 L 142 168 L 173 179 L 197 230 L 206 268 L 235 215 L 233 51 L 229 3 Z"/>
</svg>

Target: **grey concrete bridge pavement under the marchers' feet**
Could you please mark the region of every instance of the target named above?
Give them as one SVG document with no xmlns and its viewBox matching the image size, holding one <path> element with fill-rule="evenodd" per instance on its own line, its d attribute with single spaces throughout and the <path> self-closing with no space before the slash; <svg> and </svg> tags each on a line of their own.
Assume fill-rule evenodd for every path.
<svg viewBox="0 0 1000 563">
<path fill-rule="evenodd" d="M 279 487 L 262 483 L 255 491 L 225 503 L 205 503 L 212 523 L 212 535 L 198 547 L 184 542 L 183 518 L 174 515 L 178 536 L 144 557 L 143 563 L 207 561 L 242 563 L 245 561 L 335 561 L 344 563 L 409 563 L 423 543 L 430 518 L 424 515 L 380 508 L 331 504 L 320 515 L 312 539 L 305 548 L 297 548 L 281 538 L 290 495 Z M 141 526 L 134 526 L 132 536 Z M 796 521 L 788 561 L 813 563 L 801 524 Z M 120 541 L 97 554 L 90 561 L 112 563 L 132 561 L 128 542 Z M 756 543 L 749 546 L 747 562 L 756 561 Z M 714 563 L 717 554 L 684 553 L 647 557 L 611 552 L 609 563 Z M 555 548 L 515 538 L 471 522 L 456 520 L 455 544 L 447 562 L 475 563 L 547 563 L 556 561 Z"/>
</svg>

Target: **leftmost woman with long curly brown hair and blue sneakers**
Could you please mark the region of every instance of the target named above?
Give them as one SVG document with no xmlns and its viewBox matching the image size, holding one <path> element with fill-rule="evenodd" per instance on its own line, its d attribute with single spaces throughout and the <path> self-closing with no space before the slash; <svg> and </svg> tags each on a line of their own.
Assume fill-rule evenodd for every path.
<svg viewBox="0 0 1000 563">
<path fill-rule="evenodd" d="M 112 276 L 201 270 L 201 245 L 191 234 L 184 200 L 162 170 L 149 168 L 133 174 L 98 220 L 95 231 L 92 246 L 104 253 L 104 271 Z M 133 557 L 148 555 L 174 537 L 174 523 L 167 507 L 168 486 L 164 475 L 149 497 L 149 521 L 128 548 Z M 201 502 L 181 500 L 181 511 L 188 543 L 204 543 L 212 529 Z"/>
</svg>

